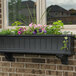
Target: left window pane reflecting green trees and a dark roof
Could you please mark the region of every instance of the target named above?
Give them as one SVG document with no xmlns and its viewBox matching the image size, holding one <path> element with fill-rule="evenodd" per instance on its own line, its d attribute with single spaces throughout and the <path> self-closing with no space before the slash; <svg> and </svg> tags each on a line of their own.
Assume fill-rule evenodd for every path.
<svg viewBox="0 0 76 76">
<path fill-rule="evenodd" d="M 8 22 L 36 23 L 36 0 L 8 0 Z"/>
</svg>

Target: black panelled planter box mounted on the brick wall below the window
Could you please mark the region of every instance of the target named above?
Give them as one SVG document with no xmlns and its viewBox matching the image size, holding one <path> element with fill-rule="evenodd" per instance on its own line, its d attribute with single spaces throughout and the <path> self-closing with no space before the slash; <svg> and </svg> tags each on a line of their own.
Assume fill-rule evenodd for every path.
<svg viewBox="0 0 76 76">
<path fill-rule="evenodd" d="M 74 38 L 67 35 L 68 50 L 61 50 L 64 37 L 65 35 L 0 36 L 0 52 L 5 53 L 7 59 L 12 53 L 32 53 L 55 54 L 61 60 L 67 60 L 68 56 L 74 54 Z"/>
</svg>

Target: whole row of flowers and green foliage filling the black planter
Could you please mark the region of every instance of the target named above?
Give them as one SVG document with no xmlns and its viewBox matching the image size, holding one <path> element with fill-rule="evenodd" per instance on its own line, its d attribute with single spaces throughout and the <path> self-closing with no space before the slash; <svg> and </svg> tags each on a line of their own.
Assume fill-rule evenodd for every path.
<svg viewBox="0 0 76 76">
<path fill-rule="evenodd" d="M 16 22 L 16 23 L 18 23 L 18 25 L 20 24 L 19 22 Z M 16 27 L 15 29 L 2 30 L 0 32 L 0 35 L 26 35 L 26 34 L 28 35 L 32 35 L 32 34 L 33 35 L 41 35 L 41 34 L 60 35 L 60 34 L 63 34 L 63 32 L 61 31 L 62 28 L 63 28 L 63 22 L 60 20 L 53 22 L 51 26 L 31 23 L 29 24 L 27 28 L 24 26 L 24 27 Z"/>
</svg>

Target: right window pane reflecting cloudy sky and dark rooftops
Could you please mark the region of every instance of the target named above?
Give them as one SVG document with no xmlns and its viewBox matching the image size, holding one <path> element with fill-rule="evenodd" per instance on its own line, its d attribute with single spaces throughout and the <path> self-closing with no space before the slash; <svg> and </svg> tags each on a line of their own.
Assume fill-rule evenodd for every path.
<svg viewBox="0 0 76 76">
<path fill-rule="evenodd" d="M 46 0 L 47 24 L 62 20 L 64 24 L 76 24 L 76 0 Z"/>
</svg>

